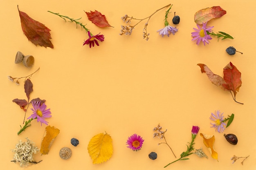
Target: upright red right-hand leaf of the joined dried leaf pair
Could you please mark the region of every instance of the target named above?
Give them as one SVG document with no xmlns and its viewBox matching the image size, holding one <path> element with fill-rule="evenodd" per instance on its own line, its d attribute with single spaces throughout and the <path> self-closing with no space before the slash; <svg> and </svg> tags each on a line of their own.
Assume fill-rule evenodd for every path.
<svg viewBox="0 0 256 170">
<path fill-rule="evenodd" d="M 241 73 L 231 62 L 223 68 L 225 84 L 222 84 L 229 91 L 233 91 L 234 97 L 242 86 Z"/>
</svg>

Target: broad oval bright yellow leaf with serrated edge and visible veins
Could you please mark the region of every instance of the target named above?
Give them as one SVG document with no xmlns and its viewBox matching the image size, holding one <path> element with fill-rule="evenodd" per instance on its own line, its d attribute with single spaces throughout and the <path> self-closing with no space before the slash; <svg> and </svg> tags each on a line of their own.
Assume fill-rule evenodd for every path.
<svg viewBox="0 0 256 170">
<path fill-rule="evenodd" d="M 93 164 L 105 162 L 113 154 L 112 138 L 107 133 L 95 135 L 90 140 L 87 149 Z"/>
</svg>

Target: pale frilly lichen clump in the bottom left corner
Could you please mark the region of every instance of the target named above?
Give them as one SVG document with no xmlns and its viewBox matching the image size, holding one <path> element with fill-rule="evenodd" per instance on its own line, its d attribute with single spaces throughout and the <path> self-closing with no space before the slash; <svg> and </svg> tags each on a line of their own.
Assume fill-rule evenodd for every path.
<svg viewBox="0 0 256 170">
<path fill-rule="evenodd" d="M 33 154 L 36 154 L 39 149 L 34 146 L 34 142 L 30 141 L 28 138 L 26 138 L 27 141 L 22 142 L 21 140 L 16 144 L 15 149 L 12 150 L 12 152 L 15 152 L 13 154 L 13 160 L 11 162 L 19 162 L 21 167 L 26 167 L 29 165 L 29 163 L 39 163 L 34 161 Z"/>
</svg>

